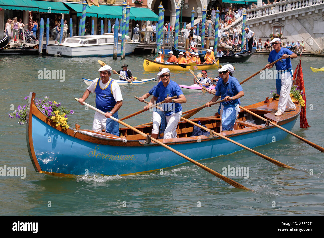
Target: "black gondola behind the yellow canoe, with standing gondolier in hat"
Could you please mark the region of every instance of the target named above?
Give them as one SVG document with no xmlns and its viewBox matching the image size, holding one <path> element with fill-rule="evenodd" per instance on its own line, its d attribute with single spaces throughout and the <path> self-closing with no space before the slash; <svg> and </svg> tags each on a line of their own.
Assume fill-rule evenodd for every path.
<svg viewBox="0 0 324 238">
<path fill-rule="evenodd" d="M 173 54 L 177 57 L 179 56 L 180 52 L 186 52 L 185 50 L 177 50 L 176 48 L 174 48 L 174 46 L 172 46 L 172 51 L 173 51 Z M 241 51 L 241 52 L 237 52 L 237 53 L 234 53 L 232 51 L 233 54 L 230 56 L 223 55 L 222 57 L 219 57 L 219 63 L 243 63 L 243 62 L 246 62 L 251 57 L 251 55 L 256 51 L 256 49 L 252 48 L 251 53 L 249 53 L 248 51 L 249 50 L 245 50 L 245 51 Z M 201 62 L 205 61 L 204 54 L 199 53 L 199 57 L 200 57 Z"/>
</svg>

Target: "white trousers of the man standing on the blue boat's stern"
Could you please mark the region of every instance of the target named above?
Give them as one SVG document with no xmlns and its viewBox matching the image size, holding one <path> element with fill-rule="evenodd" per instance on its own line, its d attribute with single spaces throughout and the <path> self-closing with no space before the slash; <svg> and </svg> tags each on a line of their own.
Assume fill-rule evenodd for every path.
<svg viewBox="0 0 324 238">
<path fill-rule="evenodd" d="M 281 89 L 280 89 L 280 97 L 278 102 L 278 110 L 284 112 L 286 106 L 288 109 L 295 108 L 295 104 L 291 100 L 289 94 L 291 85 L 293 83 L 293 77 L 290 72 L 278 73 L 281 79 Z"/>
</svg>

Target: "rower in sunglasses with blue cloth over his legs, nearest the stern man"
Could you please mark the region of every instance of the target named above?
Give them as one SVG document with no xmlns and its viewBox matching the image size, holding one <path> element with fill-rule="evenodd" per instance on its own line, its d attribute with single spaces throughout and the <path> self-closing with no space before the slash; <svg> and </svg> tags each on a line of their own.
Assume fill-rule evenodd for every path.
<svg viewBox="0 0 324 238">
<path fill-rule="evenodd" d="M 210 107 L 209 104 L 216 102 L 220 96 L 222 97 L 221 99 L 225 100 L 225 102 L 221 103 L 219 110 L 221 131 L 233 130 L 238 115 L 238 105 L 241 104 L 239 98 L 244 96 L 241 85 L 236 78 L 231 76 L 233 73 L 234 67 L 231 64 L 226 64 L 218 70 L 220 78 L 216 85 L 216 90 L 214 90 L 215 95 L 210 102 L 206 103 L 206 106 Z"/>
</svg>

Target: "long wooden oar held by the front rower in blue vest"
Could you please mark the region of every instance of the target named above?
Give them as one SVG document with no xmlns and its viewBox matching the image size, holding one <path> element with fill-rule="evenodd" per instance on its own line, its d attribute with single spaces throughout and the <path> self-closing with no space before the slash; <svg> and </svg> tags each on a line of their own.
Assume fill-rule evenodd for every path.
<svg viewBox="0 0 324 238">
<path fill-rule="evenodd" d="M 75 98 L 75 100 L 78 100 L 78 98 Z M 101 114 L 103 114 L 103 115 L 106 114 L 106 113 L 104 113 L 103 111 L 99 110 L 98 108 L 95 108 L 95 107 L 93 107 L 93 106 L 87 104 L 86 102 L 83 102 L 83 104 L 86 105 L 86 106 L 88 106 L 89 108 L 94 109 L 95 111 L 97 111 L 97 112 L 99 112 L 99 113 L 101 113 Z M 123 122 L 123 121 L 121 121 L 121 120 L 118 120 L 118 119 L 114 118 L 113 116 L 111 116 L 110 119 L 112 119 L 112 120 L 114 120 L 114 121 L 120 123 L 121 125 L 123 125 L 123 126 L 129 128 L 129 129 L 131 129 L 131 130 L 133 130 L 133 131 L 135 131 L 136 133 L 142 135 L 143 137 L 147 137 L 147 135 L 146 135 L 145 133 L 143 133 L 142 131 L 137 130 L 136 128 L 133 128 L 132 126 L 126 124 L 125 122 Z M 216 176 L 216 177 L 222 179 L 223 181 L 225 181 L 226 183 L 232 185 L 232 186 L 235 187 L 235 188 L 244 189 L 244 190 L 248 190 L 248 191 L 253 191 L 253 190 L 251 190 L 251 189 L 249 189 L 249 188 L 247 188 L 247 187 L 244 187 L 243 185 L 241 185 L 241 184 L 235 182 L 234 180 L 229 179 L 229 178 L 227 178 L 227 177 L 221 175 L 220 173 L 217 173 L 216 171 L 214 171 L 214 170 L 208 168 L 207 166 L 205 166 L 205 165 L 203 165 L 203 164 L 200 164 L 199 162 L 197 162 L 197 161 L 195 161 L 195 160 L 189 158 L 188 156 L 186 156 L 186 155 L 180 153 L 179 151 L 176 151 L 175 149 L 171 148 L 170 146 L 168 146 L 168 145 L 166 145 L 166 144 L 164 144 L 164 143 L 162 143 L 162 142 L 160 142 L 160 141 L 158 141 L 158 140 L 156 140 L 156 139 L 154 139 L 154 138 L 152 138 L 152 137 L 151 137 L 151 140 L 152 140 L 153 142 L 156 142 L 157 144 L 163 146 L 164 148 L 166 148 L 166 149 L 172 151 L 173 153 L 176 153 L 177 155 L 179 155 L 179 156 L 185 158 L 186 160 L 190 161 L 191 163 L 196 164 L 197 166 L 201 167 L 202 169 L 206 170 L 207 172 L 211 173 L 212 175 L 214 175 L 214 176 Z"/>
</svg>

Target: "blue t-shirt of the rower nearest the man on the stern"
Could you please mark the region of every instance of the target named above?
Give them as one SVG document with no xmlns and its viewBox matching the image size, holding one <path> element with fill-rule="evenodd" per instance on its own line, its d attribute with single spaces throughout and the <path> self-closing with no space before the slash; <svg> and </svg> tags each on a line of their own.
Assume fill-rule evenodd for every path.
<svg viewBox="0 0 324 238">
<path fill-rule="evenodd" d="M 217 82 L 217 85 L 216 85 L 216 93 L 215 93 L 215 95 L 216 96 L 222 95 L 221 99 L 224 99 L 226 96 L 230 96 L 230 97 L 235 96 L 240 91 L 243 91 L 243 88 L 241 87 L 241 85 L 239 84 L 237 79 L 232 77 L 232 76 L 229 76 L 225 86 L 224 86 L 224 83 L 223 83 L 223 79 L 219 78 L 219 80 Z M 222 102 L 222 104 L 224 106 L 233 106 L 233 105 L 235 105 L 237 103 L 239 105 L 241 104 L 241 101 L 240 101 L 239 98 L 234 99 L 234 100 L 230 100 L 230 101 L 227 101 L 227 102 Z"/>
</svg>

